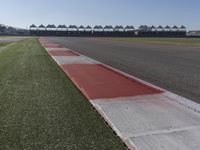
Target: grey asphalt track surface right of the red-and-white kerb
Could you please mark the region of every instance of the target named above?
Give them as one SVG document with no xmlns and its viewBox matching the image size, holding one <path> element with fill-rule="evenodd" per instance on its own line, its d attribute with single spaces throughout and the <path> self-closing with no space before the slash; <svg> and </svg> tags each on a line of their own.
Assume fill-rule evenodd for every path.
<svg viewBox="0 0 200 150">
<path fill-rule="evenodd" d="M 200 103 L 200 47 L 47 37 L 88 57 Z"/>
</svg>

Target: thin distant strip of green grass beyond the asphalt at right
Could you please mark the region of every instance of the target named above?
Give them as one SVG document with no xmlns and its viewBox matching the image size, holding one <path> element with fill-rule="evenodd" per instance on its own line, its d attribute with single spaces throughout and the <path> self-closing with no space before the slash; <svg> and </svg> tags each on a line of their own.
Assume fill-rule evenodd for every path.
<svg viewBox="0 0 200 150">
<path fill-rule="evenodd" d="M 169 44 L 200 46 L 200 38 L 108 38 L 116 42 L 141 42 L 148 44 Z"/>
</svg>

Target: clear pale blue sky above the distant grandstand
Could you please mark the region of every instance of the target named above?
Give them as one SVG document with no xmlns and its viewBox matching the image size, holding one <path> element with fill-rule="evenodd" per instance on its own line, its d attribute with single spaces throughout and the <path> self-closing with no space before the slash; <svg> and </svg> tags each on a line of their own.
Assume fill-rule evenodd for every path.
<svg viewBox="0 0 200 150">
<path fill-rule="evenodd" d="M 0 24 L 185 25 L 200 29 L 200 0 L 0 0 Z"/>
</svg>

